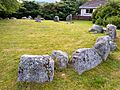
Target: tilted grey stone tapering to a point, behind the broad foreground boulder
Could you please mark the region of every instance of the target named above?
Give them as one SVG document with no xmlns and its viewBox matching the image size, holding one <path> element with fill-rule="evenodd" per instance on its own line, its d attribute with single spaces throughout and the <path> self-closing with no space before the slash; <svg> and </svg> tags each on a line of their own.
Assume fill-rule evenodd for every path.
<svg viewBox="0 0 120 90">
<path fill-rule="evenodd" d="M 96 42 L 93 48 L 97 51 L 97 53 L 101 56 L 101 58 L 106 61 L 108 55 L 110 54 L 110 45 L 108 42 L 102 40 Z"/>
</svg>

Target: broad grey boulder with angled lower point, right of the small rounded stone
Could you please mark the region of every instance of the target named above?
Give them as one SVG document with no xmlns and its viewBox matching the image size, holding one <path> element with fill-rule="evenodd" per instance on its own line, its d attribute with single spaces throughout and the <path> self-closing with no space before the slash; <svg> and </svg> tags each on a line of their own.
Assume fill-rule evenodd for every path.
<svg viewBox="0 0 120 90">
<path fill-rule="evenodd" d="M 72 66 L 78 74 L 96 67 L 101 61 L 101 56 L 93 48 L 78 49 L 72 55 Z"/>
</svg>

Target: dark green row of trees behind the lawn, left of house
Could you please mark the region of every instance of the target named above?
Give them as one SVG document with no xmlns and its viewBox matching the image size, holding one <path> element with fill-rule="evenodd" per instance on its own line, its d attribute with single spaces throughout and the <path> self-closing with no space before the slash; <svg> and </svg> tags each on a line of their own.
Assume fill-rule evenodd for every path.
<svg viewBox="0 0 120 90">
<path fill-rule="evenodd" d="M 21 18 L 29 15 L 35 18 L 37 15 L 45 19 L 53 19 L 54 16 L 59 16 L 64 20 L 68 14 L 75 14 L 79 10 L 79 6 L 87 0 L 61 0 L 56 3 L 36 3 L 32 1 L 23 1 L 19 10 L 14 13 L 0 13 L 0 17 L 16 17 Z"/>
</svg>

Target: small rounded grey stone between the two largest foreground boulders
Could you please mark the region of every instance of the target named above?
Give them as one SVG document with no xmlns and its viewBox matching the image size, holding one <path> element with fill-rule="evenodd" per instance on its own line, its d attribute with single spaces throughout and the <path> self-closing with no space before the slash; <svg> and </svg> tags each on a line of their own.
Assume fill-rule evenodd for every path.
<svg viewBox="0 0 120 90">
<path fill-rule="evenodd" d="M 59 68 L 65 68 L 68 64 L 68 54 L 60 50 L 54 50 L 51 54 L 53 60 L 57 60 L 57 65 Z"/>
</svg>

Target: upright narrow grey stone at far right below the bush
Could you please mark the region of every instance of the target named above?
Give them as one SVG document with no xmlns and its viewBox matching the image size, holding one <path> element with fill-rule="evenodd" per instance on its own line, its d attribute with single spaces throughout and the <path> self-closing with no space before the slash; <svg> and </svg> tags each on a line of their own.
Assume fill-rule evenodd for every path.
<svg viewBox="0 0 120 90">
<path fill-rule="evenodd" d="M 109 35 L 113 41 L 116 38 L 116 29 L 117 27 L 115 25 L 112 24 L 107 25 L 107 31 L 106 31 L 107 35 Z"/>
</svg>

